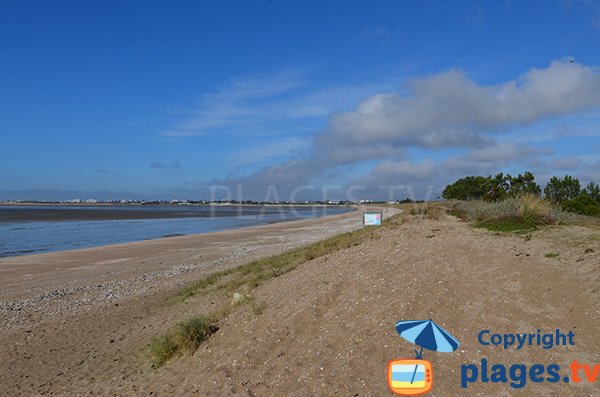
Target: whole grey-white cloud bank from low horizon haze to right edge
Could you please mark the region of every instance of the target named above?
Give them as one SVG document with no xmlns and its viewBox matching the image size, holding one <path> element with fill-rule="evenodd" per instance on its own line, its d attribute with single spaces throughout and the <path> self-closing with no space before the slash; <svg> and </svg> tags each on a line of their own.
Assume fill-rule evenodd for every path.
<svg viewBox="0 0 600 397">
<path fill-rule="evenodd" d="M 519 127 L 598 108 L 599 70 L 573 61 L 554 61 L 498 85 L 481 85 L 450 70 L 410 80 L 400 92 L 372 95 L 351 111 L 333 113 L 304 156 L 218 183 L 241 185 L 254 195 L 275 186 L 286 194 L 326 170 L 367 161 L 375 161 L 374 168 L 354 183 L 441 183 L 548 155 L 548 149 L 504 138 Z M 410 152 L 417 149 L 461 153 L 412 163 Z"/>
</svg>

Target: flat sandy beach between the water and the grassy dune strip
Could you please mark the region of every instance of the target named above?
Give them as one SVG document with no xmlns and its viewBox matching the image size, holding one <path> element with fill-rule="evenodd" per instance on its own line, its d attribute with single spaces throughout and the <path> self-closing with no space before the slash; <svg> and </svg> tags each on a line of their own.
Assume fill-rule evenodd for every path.
<svg viewBox="0 0 600 397">
<path fill-rule="evenodd" d="M 77 395 L 76 389 L 64 388 L 72 385 L 72 376 L 83 381 L 86 389 L 85 384 L 97 376 L 86 375 L 95 372 L 97 360 L 106 359 L 110 365 L 114 358 L 109 356 L 122 354 L 127 360 L 132 351 L 138 355 L 157 330 L 143 326 L 139 332 L 131 320 L 140 313 L 161 312 L 161 303 L 182 285 L 216 270 L 359 227 L 361 214 L 356 211 L 201 235 L 2 258 L 0 349 L 7 359 L 0 375 L 0 394 L 44 395 L 62 390 L 62 395 Z M 160 320 L 163 326 L 173 319 L 166 314 Z M 110 335 L 115 333 L 131 334 L 137 346 L 132 345 L 133 350 L 127 352 L 114 349 L 118 344 L 110 342 Z M 96 343 L 99 345 L 92 350 L 86 348 Z M 97 350 L 99 346 L 103 347 Z M 95 351 L 103 353 L 91 354 Z M 144 367 L 147 363 L 142 359 L 139 364 Z M 115 366 L 113 375 L 121 370 Z"/>
</svg>

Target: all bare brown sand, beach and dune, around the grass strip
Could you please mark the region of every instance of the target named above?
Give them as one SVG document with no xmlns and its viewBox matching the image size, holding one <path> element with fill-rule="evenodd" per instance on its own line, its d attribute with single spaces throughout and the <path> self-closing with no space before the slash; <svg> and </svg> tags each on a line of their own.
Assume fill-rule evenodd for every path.
<svg viewBox="0 0 600 397">
<path fill-rule="evenodd" d="M 461 342 L 426 352 L 434 396 L 600 396 L 600 384 L 460 387 L 460 366 L 600 364 L 600 231 L 547 227 L 495 235 L 453 217 L 407 217 L 252 293 L 193 355 L 153 370 L 152 338 L 219 302 L 166 299 L 214 269 L 357 227 L 359 213 L 204 236 L 0 260 L 0 395 L 389 396 L 387 361 L 411 357 L 394 329 L 432 318 Z M 587 251 L 587 252 L 586 252 Z M 546 254 L 559 254 L 549 258 Z M 477 333 L 574 331 L 575 346 L 520 351 Z"/>
</svg>

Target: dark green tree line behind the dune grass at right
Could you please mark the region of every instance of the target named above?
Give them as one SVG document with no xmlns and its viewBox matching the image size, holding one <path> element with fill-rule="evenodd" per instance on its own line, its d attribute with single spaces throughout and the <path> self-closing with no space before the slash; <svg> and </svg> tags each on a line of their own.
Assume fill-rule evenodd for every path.
<svg viewBox="0 0 600 397">
<path fill-rule="evenodd" d="M 563 209 L 583 215 L 600 216 L 600 187 L 591 181 L 584 188 L 577 178 L 553 176 L 544 187 L 544 197 Z M 502 201 L 522 194 L 542 195 L 535 176 L 527 171 L 516 177 L 502 172 L 495 176 L 467 176 L 446 186 L 445 199 Z"/>
</svg>

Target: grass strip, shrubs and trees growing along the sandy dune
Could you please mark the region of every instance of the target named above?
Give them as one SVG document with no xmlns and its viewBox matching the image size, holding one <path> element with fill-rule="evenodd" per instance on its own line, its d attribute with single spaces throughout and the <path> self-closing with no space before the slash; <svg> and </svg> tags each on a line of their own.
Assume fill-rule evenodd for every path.
<svg viewBox="0 0 600 397">
<path fill-rule="evenodd" d="M 544 189 L 546 198 L 542 198 L 541 189 L 534 179 L 529 172 L 514 178 L 504 174 L 495 177 L 466 177 L 446 187 L 443 195 L 450 200 L 445 203 L 411 203 L 399 204 L 397 207 L 411 215 L 433 220 L 440 219 L 448 212 L 465 221 L 474 222 L 477 227 L 497 232 L 527 232 L 541 225 L 571 223 L 575 215 L 567 211 L 600 215 L 600 189 L 595 183 L 591 182 L 581 190 L 579 181 L 575 178 L 553 178 Z M 398 214 L 384 220 L 382 228 L 395 228 L 404 221 L 404 215 Z M 265 281 L 290 272 L 305 262 L 367 240 L 378 239 L 378 230 L 381 228 L 364 227 L 212 273 L 183 288 L 168 303 L 182 303 L 191 297 L 205 294 L 217 294 L 211 297 L 223 298 L 231 296 L 235 291 L 252 292 Z M 531 235 L 528 237 L 531 238 Z M 558 254 L 546 256 L 554 258 Z M 266 309 L 266 303 L 257 301 L 253 295 L 236 293 L 232 302 L 227 302 L 209 315 L 187 319 L 153 338 L 147 346 L 153 367 L 159 367 L 184 352 L 193 353 L 216 332 L 219 320 L 236 307 L 249 303 L 252 303 L 251 312 L 255 315 L 261 315 Z"/>
</svg>

